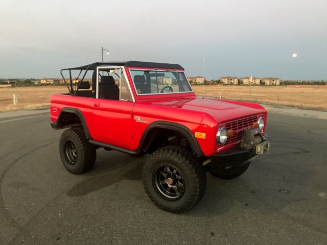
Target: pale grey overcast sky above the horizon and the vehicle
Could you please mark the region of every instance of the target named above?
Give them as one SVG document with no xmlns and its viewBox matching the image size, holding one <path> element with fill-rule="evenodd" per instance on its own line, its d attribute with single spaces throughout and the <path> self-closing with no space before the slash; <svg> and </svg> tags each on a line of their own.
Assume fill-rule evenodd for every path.
<svg viewBox="0 0 327 245">
<path fill-rule="evenodd" d="M 101 61 L 178 63 L 188 76 L 327 79 L 327 1 L 0 0 L 0 78 Z M 297 53 L 296 58 L 292 54 Z"/>
</svg>

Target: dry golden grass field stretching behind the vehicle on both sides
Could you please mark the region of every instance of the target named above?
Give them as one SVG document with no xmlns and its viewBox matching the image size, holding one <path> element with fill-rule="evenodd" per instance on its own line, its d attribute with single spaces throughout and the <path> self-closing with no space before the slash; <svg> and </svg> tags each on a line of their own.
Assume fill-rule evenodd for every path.
<svg viewBox="0 0 327 245">
<path fill-rule="evenodd" d="M 193 86 L 202 96 L 202 86 Z M 327 86 L 205 86 L 206 97 L 243 100 L 327 111 Z M 251 89 L 251 91 L 250 91 Z M 10 87 L 0 85 L 0 112 L 48 107 L 53 93 L 66 93 L 66 86 Z M 13 94 L 18 105 L 13 105 Z"/>
</svg>

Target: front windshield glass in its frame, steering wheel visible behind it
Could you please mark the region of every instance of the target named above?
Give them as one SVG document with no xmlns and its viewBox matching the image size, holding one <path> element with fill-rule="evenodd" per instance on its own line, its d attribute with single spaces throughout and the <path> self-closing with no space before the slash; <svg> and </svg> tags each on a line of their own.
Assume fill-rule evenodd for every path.
<svg viewBox="0 0 327 245">
<path fill-rule="evenodd" d="M 182 71 L 130 69 L 130 74 L 138 95 L 193 92 Z"/>
</svg>

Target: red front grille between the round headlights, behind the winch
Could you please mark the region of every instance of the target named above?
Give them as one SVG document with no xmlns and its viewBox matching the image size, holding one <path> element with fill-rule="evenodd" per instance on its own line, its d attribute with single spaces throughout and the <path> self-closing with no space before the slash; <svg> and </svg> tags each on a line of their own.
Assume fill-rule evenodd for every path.
<svg viewBox="0 0 327 245">
<path fill-rule="evenodd" d="M 243 117 L 233 121 L 225 122 L 221 127 L 225 127 L 228 131 L 233 131 L 233 136 L 227 139 L 226 144 L 236 144 L 241 141 L 244 133 L 243 129 L 253 128 L 253 125 L 258 121 L 259 115 Z"/>
</svg>

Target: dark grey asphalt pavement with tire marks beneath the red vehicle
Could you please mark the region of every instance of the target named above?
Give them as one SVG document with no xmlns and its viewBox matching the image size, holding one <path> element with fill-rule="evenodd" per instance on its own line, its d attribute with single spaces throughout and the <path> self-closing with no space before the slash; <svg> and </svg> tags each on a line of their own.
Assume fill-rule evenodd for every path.
<svg viewBox="0 0 327 245">
<path fill-rule="evenodd" d="M 190 212 L 155 207 L 144 157 L 99 150 L 62 166 L 49 116 L 0 122 L 0 244 L 327 244 L 327 121 L 270 114 L 271 154 L 244 175 L 207 175 Z"/>
</svg>

